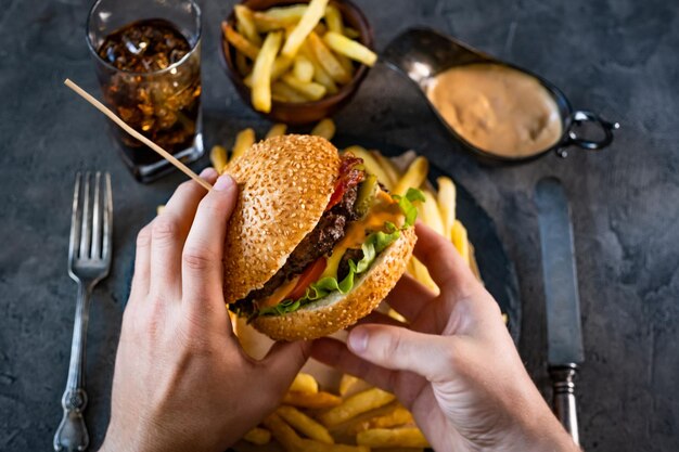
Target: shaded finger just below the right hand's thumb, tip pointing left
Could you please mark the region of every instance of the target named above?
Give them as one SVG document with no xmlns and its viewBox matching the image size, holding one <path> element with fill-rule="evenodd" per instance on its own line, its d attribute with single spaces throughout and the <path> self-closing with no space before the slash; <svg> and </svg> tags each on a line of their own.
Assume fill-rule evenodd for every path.
<svg viewBox="0 0 679 452">
<path fill-rule="evenodd" d="M 340 371 L 364 379 L 389 392 L 394 391 L 394 373 L 351 353 L 341 340 L 323 337 L 313 341 L 311 358 Z"/>
</svg>

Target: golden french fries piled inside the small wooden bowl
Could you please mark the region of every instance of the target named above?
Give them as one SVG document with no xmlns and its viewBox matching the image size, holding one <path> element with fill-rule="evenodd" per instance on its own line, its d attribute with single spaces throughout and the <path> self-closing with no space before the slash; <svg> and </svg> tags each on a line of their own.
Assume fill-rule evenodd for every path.
<svg viewBox="0 0 679 452">
<path fill-rule="evenodd" d="M 253 11 L 234 7 L 235 28 L 222 22 L 223 51 L 235 49 L 235 67 L 252 90 L 253 107 L 271 111 L 271 100 L 310 102 L 334 94 L 356 67 L 377 55 L 361 44 L 337 7 L 328 0 Z"/>
</svg>

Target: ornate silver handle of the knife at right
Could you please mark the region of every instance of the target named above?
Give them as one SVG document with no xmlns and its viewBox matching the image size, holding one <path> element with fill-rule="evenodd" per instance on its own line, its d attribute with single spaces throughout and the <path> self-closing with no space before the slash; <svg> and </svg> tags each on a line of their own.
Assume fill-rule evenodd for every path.
<svg viewBox="0 0 679 452">
<path fill-rule="evenodd" d="M 578 413 L 575 402 L 575 375 L 578 366 L 575 363 L 550 366 L 549 374 L 552 377 L 554 389 L 554 414 L 561 421 L 564 428 L 576 444 L 580 444 L 578 434 Z"/>
</svg>

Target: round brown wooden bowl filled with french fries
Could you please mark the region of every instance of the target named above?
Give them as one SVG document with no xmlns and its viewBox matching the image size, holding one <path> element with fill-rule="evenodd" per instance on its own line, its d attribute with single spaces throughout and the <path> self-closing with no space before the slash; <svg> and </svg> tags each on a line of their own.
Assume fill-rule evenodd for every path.
<svg viewBox="0 0 679 452">
<path fill-rule="evenodd" d="M 321 3 L 326 12 L 317 13 L 316 22 L 309 23 L 306 18 L 310 17 L 305 18 L 299 11 L 307 4 L 310 10 L 315 3 Z M 356 94 L 368 74 L 368 64 L 376 60 L 370 50 L 372 29 L 350 1 L 330 0 L 326 7 L 322 3 L 244 0 L 222 23 L 225 69 L 255 112 L 289 125 L 309 124 L 332 116 Z M 295 5 L 299 7 L 297 11 Z M 304 22 L 312 26 L 312 31 L 296 34 Z M 300 36 L 298 42 L 290 42 L 295 41 L 291 39 L 294 35 Z"/>
</svg>

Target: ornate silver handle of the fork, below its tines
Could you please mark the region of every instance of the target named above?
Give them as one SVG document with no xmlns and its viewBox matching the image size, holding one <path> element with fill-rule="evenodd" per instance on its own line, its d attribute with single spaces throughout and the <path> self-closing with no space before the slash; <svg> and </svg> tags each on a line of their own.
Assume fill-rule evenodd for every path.
<svg viewBox="0 0 679 452">
<path fill-rule="evenodd" d="M 85 451 L 90 442 L 82 413 L 87 405 L 87 393 L 85 392 L 85 343 L 87 339 L 87 324 L 90 318 L 91 293 L 91 285 L 84 282 L 78 283 L 78 301 L 73 325 L 68 380 L 66 390 L 62 396 L 64 415 L 54 434 L 54 450 L 57 452 Z"/>
</svg>

